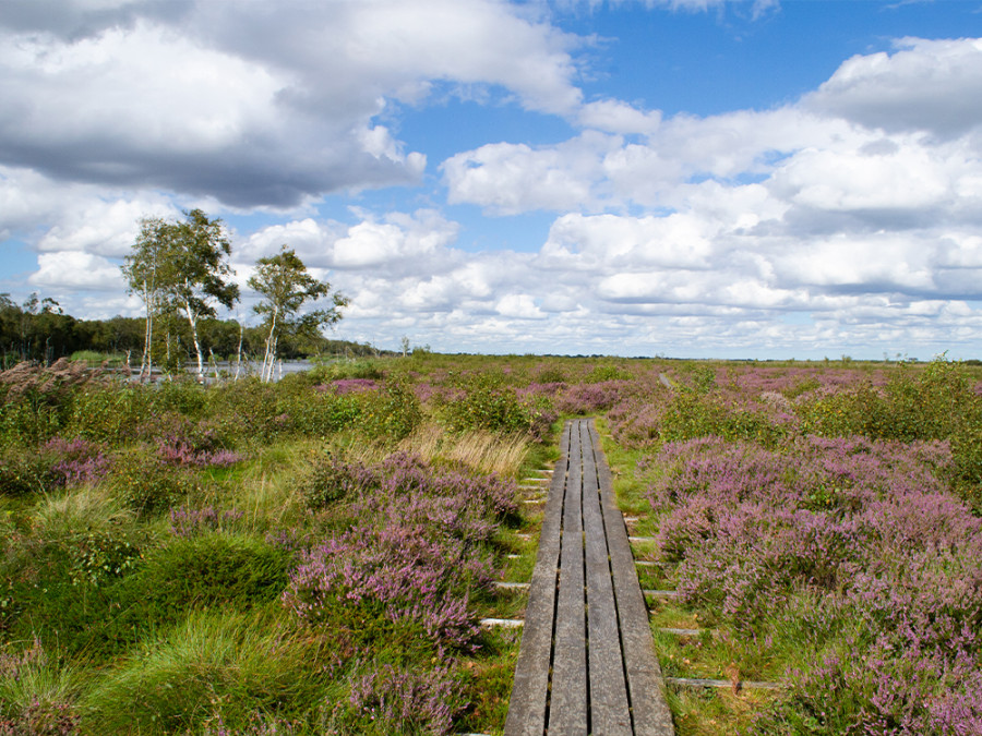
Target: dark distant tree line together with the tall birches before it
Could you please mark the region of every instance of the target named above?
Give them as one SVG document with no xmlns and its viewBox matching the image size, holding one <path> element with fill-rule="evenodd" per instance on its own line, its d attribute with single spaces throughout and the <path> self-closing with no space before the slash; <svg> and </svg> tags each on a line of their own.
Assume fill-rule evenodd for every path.
<svg viewBox="0 0 982 736">
<path fill-rule="evenodd" d="M 175 372 L 193 361 L 203 376 L 206 364 L 235 360 L 238 365 L 261 357 L 261 377 L 271 381 L 277 359 L 378 354 L 370 346 L 323 336 L 348 300 L 311 276 L 286 245 L 260 258 L 249 279 L 261 297 L 253 312 L 262 324 L 219 319 L 218 305 L 231 309 L 239 301 L 230 255 L 221 220 L 200 209 L 184 213 L 182 221 L 143 218 L 121 267 L 128 291 L 145 305 L 143 318 L 76 319 L 37 293 L 23 304 L 0 294 L 0 360 L 4 366 L 22 360 L 50 363 L 91 350 L 124 354 L 132 370 L 149 378 L 154 366 Z M 306 309 L 308 303 L 315 309 Z"/>
</svg>

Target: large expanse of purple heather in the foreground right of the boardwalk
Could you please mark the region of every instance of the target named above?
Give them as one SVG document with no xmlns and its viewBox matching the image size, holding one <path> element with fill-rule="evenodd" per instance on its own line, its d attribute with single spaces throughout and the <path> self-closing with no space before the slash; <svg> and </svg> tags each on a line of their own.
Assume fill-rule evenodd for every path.
<svg viewBox="0 0 982 736">
<path fill-rule="evenodd" d="M 811 631 L 814 662 L 754 733 L 979 733 L 982 519 L 947 491 L 948 443 L 704 437 L 654 466 L 682 601 L 744 636 Z"/>
</svg>

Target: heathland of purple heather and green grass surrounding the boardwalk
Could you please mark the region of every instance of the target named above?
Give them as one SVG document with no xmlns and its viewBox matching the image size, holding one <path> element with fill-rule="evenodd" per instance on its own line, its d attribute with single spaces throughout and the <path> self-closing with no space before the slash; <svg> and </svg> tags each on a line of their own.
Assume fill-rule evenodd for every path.
<svg viewBox="0 0 982 736">
<path fill-rule="evenodd" d="M 596 415 L 679 734 L 982 733 L 975 369 L 407 358 L 0 373 L 0 736 L 500 733 Z M 729 687 L 693 687 L 694 678 Z M 754 684 L 774 687 L 758 688 Z"/>
</svg>

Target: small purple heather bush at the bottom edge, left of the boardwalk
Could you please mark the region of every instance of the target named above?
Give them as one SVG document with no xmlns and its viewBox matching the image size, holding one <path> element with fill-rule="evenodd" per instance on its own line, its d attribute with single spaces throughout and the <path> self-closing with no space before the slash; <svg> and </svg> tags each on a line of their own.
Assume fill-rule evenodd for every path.
<svg viewBox="0 0 982 736">
<path fill-rule="evenodd" d="M 463 710 L 462 689 L 444 668 L 419 672 L 382 665 L 356 680 L 348 700 L 356 719 L 369 721 L 371 733 L 382 734 L 448 734 L 454 715 Z"/>
</svg>

